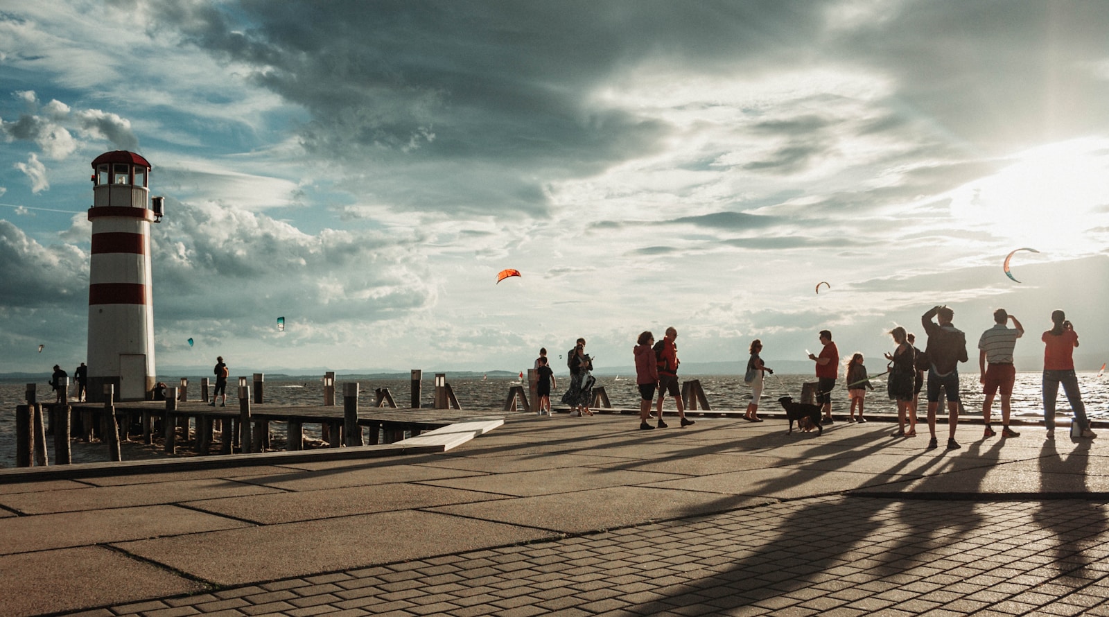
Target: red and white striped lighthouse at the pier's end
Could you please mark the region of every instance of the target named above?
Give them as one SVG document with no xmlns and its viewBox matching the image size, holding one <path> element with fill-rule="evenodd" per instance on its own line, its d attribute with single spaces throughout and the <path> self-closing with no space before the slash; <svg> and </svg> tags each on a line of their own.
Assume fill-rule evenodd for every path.
<svg viewBox="0 0 1109 617">
<path fill-rule="evenodd" d="M 89 399 L 151 398 L 154 302 L 150 224 L 161 221 L 162 199 L 150 195 L 150 163 L 134 152 L 105 152 L 92 161 L 92 251 L 89 263 Z"/>
</svg>

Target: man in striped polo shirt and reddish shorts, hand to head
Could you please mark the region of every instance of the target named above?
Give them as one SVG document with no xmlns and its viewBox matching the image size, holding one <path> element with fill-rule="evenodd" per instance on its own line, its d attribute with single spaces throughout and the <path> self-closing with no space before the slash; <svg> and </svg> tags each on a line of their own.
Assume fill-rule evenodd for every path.
<svg viewBox="0 0 1109 617">
<path fill-rule="evenodd" d="M 1009 320 L 1013 320 L 1015 327 L 1006 327 Z M 986 422 L 983 437 L 997 434 L 989 426 L 989 411 L 997 391 L 1001 391 L 1001 436 L 1019 437 L 1020 433 L 1009 428 L 1009 399 L 1013 397 L 1013 382 L 1017 377 L 1016 368 L 1013 367 L 1013 348 L 1017 345 L 1017 338 L 1024 335 L 1025 328 L 1005 308 L 994 311 L 994 327 L 983 332 L 978 340 L 978 368 L 981 375 L 978 381 L 986 395 L 981 403 L 981 417 Z"/>
</svg>

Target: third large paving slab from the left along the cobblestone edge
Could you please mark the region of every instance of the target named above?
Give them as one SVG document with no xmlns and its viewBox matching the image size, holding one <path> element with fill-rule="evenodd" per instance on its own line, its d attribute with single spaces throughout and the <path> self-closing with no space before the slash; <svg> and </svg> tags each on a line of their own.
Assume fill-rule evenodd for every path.
<svg viewBox="0 0 1109 617">
<path fill-rule="evenodd" d="M 573 497 L 572 502 L 570 495 Z M 582 534 L 649 520 L 665 520 L 747 507 L 771 500 L 753 496 L 722 497 L 693 490 L 614 486 L 580 490 L 569 495 L 539 495 L 430 509 L 513 525 L 537 526 L 568 534 Z"/>
</svg>

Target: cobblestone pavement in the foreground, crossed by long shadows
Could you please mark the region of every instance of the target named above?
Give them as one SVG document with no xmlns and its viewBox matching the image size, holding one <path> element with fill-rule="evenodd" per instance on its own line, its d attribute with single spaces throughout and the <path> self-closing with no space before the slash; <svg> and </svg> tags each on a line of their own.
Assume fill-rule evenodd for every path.
<svg viewBox="0 0 1109 617">
<path fill-rule="evenodd" d="M 83 615 L 1109 615 L 1107 506 L 802 498 Z"/>
</svg>

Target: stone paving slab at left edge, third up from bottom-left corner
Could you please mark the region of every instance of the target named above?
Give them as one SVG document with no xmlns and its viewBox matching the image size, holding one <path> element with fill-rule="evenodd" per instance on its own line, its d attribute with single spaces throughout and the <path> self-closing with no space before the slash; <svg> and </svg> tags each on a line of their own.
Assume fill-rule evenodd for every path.
<svg viewBox="0 0 1109 617">
<path fill-rule="evenodd" d="M 0 495 L 0 505 L 24 514 L 48 514 L 112 507 L 174 504 L 186 499 L 276 493 L 274 488 L 222 478 L 159 482 L 128 486 L 87 486 L 51 490 L 43 499 L 37 493 Z"/>
</svg>

